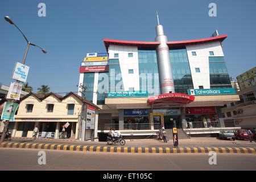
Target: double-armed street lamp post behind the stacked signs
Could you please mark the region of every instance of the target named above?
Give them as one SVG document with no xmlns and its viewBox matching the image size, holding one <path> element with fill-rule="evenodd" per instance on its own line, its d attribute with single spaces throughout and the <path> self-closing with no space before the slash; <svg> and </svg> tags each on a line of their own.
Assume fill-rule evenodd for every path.
<svg viewBox="0 0 256 182">
<path fill-rule="evenodd" d="M 25 52 L 25 55 L 24 55 L 23 61 L 22 61 L 22 64 L 25 64 L 26 57 L 27 57 L 28 47 L 30 47 L 30 45 L 31 45 L 31 46 L 36 46 L 36 44 L 33 44 L 33 43 L 31 43 L 31 42 L 29 42 L 29 41 L 27 40 L 26 36 L 25 36 L 25 35 L 23 34 L 23 32 L 19 29 L 19 27 L 16 26 L 16 24 L 13 22 L 13 20 L 11 20 L 11 18 L 10 18 L 9 16 L 5 16 L 5 20 L 6 20 L 7 22 L 9 22 L 10 24 L 14 24 L 14 26 L 15 26 L 16 28 L 18 28 L 18 30 L 20 31 L 20 33 L 22 33 L 23 37 L 24 37 L 24 38 L 26 39 L 26 41 L 27 41 L 27 48 L 26 48 L 26 52 Z M 40 48 L 43 53 L 47 53 L 46 50 L 44 50 L 42 47 L 39 47 L 39 46 L 36 46 L 36 47 Z M 19 81 L 16 81 L 16 82 L 19 83 Z M 7 121 L 6 121 L 6 124 L 5 124 L 4 128 L 3 128 L 3 133 L 2 133 L 2 137 L 1 137 L 1 139 L 0 139 L 0 143 L 2 143 L 3 140 L 5 139 L 5 133 L 6 133 L 6 129 L 7 129 L 8 125 L 9 125 L 9 121 L 7 120 Z"/>
</svg>

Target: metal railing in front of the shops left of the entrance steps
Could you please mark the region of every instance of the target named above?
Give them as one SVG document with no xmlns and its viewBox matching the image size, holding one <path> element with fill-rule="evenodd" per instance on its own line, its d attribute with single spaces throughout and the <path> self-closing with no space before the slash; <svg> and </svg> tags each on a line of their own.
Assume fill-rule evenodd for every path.
<svg viewBox="0 0 256 182">
<path fill-rule="evenodd" d="M 105 124 L 104 130 L 151 130 L 151 123 L 131 123 L 131 124 Z M 154 130 L 160 129 L 160 123 L 154 123 Z"/>
</svg>

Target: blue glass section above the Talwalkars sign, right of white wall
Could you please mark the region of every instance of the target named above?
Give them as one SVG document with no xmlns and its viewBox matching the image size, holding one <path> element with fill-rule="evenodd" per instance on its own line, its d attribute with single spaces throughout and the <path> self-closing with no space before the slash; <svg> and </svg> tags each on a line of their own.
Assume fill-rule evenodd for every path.
<svg viewBox="0 0 256 182">
<path fill-rule="evenodd" d="M 223 56 L 209 57 L 210 88 L 232 88 Z"/>
</svg>

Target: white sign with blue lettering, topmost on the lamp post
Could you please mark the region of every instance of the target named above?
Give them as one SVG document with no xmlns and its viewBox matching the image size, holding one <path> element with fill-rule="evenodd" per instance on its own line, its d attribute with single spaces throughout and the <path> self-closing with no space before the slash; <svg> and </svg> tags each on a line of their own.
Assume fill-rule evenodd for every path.
<svg viewBox="0 0 256 182">
<path fill-rule="evenodd" d="M 12 78 L 14 80 L 26 82 L 29 69 L 30 67 L 16 62 Z"/>
</svg>

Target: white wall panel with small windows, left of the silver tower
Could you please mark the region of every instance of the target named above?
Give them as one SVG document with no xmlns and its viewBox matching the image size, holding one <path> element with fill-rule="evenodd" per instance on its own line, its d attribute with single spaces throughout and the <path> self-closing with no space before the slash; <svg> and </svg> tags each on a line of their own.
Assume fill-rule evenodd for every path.
<svg viewBox="0 0 256 182">
<path fill-rule="evenodd" d="M 115 53 L 118 53 L 118 58 L 114 57 Z M 128 53 L 133 53 L 133 57 L 128 57 Z M 138 47 L 110 45 L 109 59 L 119 59 L 125 91 L 129 88 L 139 90 Z M 133 69 L 133 74 L 129 74 L 129 69 Z"/>
</svg>

